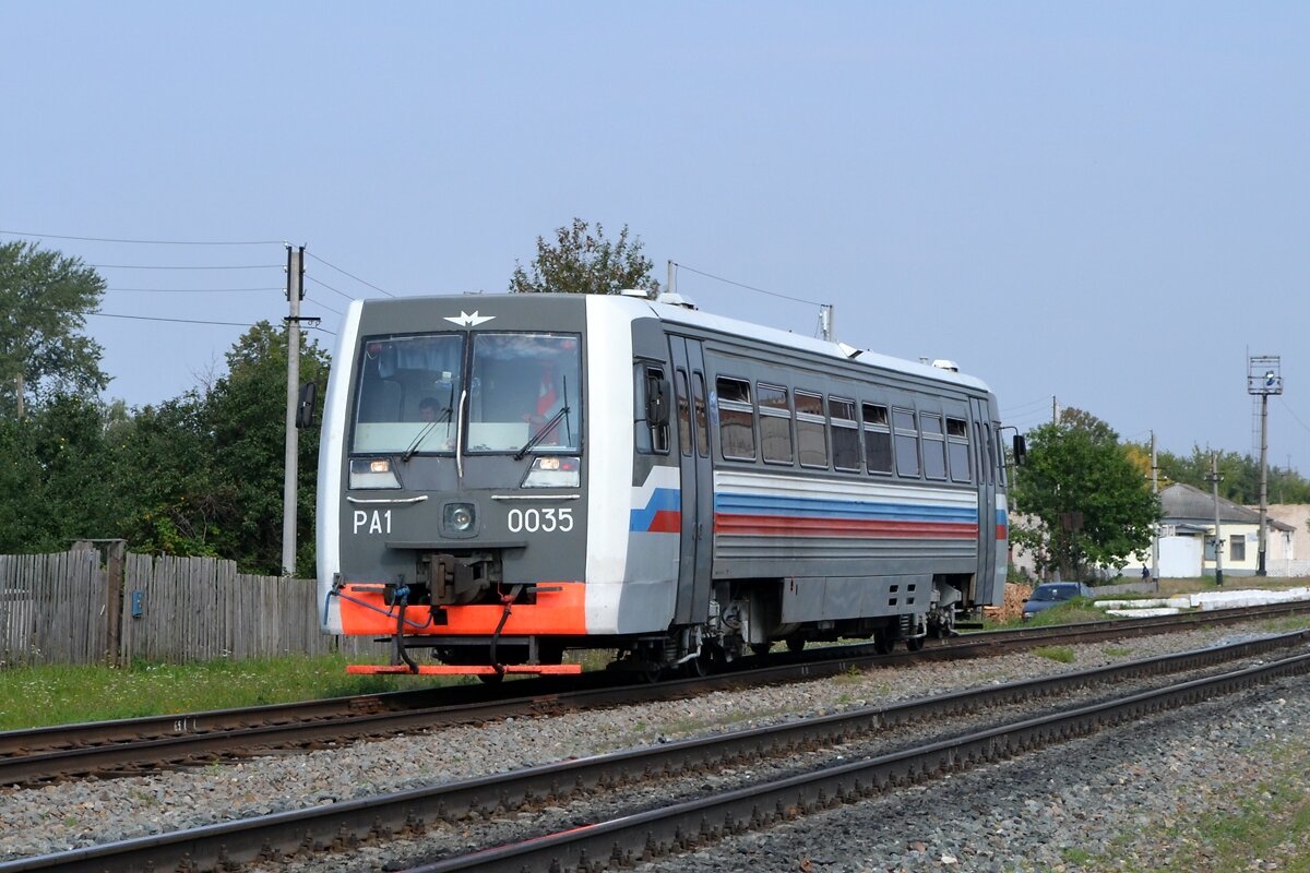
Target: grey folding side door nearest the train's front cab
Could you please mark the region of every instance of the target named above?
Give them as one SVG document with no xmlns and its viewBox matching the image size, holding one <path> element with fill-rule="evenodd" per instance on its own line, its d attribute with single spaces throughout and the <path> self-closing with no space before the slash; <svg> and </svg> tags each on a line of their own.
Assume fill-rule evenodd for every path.
<svg viewBox="0 0 1310 873">
<path fill-rule="evenodd" d="M 714 472 L 710 469 L 709 398 L 701 342 L 669 336 L 681 463 L 683 538 L 677 569 L 679 624 L 709 618 L 710 559 L 714 531 Z"/>
</svg>

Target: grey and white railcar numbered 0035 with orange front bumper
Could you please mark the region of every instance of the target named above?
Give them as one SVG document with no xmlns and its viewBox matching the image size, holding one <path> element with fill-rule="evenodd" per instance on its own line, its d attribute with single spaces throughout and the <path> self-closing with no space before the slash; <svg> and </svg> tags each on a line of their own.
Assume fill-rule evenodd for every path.
<svg viewBox="0 0 1310 873">
<path fill-rule="evenodd" d="M 914 650 L 1000 605 L 996 397 L 679 294 L 354 301 L 324 395 L 320 626 L 352 673 L 647 675 Z"/>
</svg>

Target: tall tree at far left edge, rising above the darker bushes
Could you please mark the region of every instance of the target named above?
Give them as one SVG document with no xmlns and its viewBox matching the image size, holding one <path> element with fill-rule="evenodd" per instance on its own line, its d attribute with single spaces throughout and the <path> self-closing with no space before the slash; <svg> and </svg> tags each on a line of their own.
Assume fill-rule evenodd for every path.
<svg viewBox="0 0 1310 873">
<path fill-rule="evenodd" d="M 16 418 L 28 394 L 94 397 L 109 383 L 100 344 L 80 332 L 103 293 L 105 280 L 77 258 L 0 245 L 0 403 Z"/>
</svg>

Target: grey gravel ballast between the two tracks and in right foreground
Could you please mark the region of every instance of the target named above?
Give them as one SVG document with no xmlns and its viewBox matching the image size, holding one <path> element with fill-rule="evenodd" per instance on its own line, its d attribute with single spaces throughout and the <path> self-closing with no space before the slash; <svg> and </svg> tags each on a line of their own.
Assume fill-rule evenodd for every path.
<svg viewBox="0 0 1310 873">
<path fill-rule="evenodd" d="M 696 700 L 443 729 L 186 772 L 7 788 L 0 791 L 0 859 L 1238 639 L 1242 632 L 1227 628 L 1076 647 L 1068 665 L 1031 653 L 920 664 Z M 1104 861 L 1090 869 L 1159 869 L 1157 859 L 1167 847 L 1155 831 L 1172 827 L 1186 835 L 1203 811 L 1237 810 L 1244 794 L 1224 785 L 1256 792 L 1262 780 L 1284 775 L 1288 755 L 1305 759 L 1310 742 L 1306 687 L 1305 679 L 1285 681 L 1203 704 L 1192 715 L 1165 713 L 1019 760 L 724 840 L 646 869 L 1073 870 L 1102 864 L 1106 852 L 1123 864 Z M 567 810 L 558 811 L 567 817 Z M 1275 847 L 1273 857 L 1259 861 L 1277 864 L 1279 851 L 1293 849 Z M 320 859 L 303 869 L 369 869 L 384 863 L 380 852 Z"/>
</svg>

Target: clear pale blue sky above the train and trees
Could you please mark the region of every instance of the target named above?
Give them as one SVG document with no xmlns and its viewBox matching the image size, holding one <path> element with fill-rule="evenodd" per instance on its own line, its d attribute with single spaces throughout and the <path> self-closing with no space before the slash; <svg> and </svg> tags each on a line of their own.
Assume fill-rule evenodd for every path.
<svg viewBox="0 0 1310 873">
<path fill-rule="evenodd" d="M 831 304 L 841 342 L 951 359 L 1020 431 L 1057 403 L 1258 454 L 1279 356 L 1269 463 L 1310 474 L 1310 4 L 0 16 L 0 242 L 96 266 L 130 406 L 280 322 L 286 243 L 331 351 L 348 300 L 500 293 L 576 216 L 703 310 L 814 335 Z"/>
</svg>

